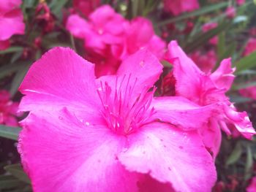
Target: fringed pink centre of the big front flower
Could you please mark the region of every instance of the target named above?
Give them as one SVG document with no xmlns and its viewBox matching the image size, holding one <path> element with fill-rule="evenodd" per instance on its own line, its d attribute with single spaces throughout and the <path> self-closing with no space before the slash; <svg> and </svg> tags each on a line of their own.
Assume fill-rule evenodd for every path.
<svg viewBox="0 0 256 192">
<path fill-rule="evenodd" d="M 130 74 L 129 77 L 124 75 L 119 80 L 118 82 L 118 77 L 116 77 L 115 88 L 111 88 L 108 82 L 105 82 L 105 85 L 100 82 L 97 92 L 102 102 L 102 115 L 108 127 L 118 134 L 127 135 L 148 123 L 154 115 L 154 107 L 150 105 L 155 88 L 150 92 L 148 88 L 143 88 L 136 95 L 134 88 L 137 79 L 132 82 Z"/>
</svg>

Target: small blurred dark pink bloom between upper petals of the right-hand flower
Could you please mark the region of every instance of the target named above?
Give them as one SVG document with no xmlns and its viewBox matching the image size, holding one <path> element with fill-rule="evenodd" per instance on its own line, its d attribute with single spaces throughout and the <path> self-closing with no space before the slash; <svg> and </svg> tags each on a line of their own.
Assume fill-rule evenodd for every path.
<svg viewBox="0 0 256 192">
<path fill-rule="evenodd" d="M 190 55 L 192 60 L 197 66 L 206 74 L 210 73 L 217 63 L 217 55 L 214 50 L 209 50 L 206 53 L 200 53 L 196 51 Z"/>
</svg>

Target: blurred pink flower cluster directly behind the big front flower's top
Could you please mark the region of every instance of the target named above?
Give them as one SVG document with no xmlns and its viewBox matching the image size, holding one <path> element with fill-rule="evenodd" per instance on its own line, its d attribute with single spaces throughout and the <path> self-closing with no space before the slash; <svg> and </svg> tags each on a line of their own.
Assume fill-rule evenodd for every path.
<svg viewBox="0 0 256 192">
<path fill-rule="evenodd" d="M 165 42 L 154 34 L 150 20 L 141 17 L 126 20 L 108 5 L 92 12 L 89 20 L 78 14 L 70 15 L 67 29 L 84 40 L 85 58 L 96 64 L 97 77 L 115 74 L 121 61 L 143 47 L 157 58 L 162 58 L 165 52 Z"/>
</svg>

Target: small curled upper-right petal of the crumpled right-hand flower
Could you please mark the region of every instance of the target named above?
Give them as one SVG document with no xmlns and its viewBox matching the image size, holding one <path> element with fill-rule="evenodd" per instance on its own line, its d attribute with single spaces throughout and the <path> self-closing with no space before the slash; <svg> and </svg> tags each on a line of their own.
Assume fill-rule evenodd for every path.
<svg viewBox="0 0 256 192">
<path fill-rule="evenodd" d="M 231 68 L 231 58 L 224 59 L 219 68 L 210 75 L 211 80 L 215 82 L 217 88 L 225 88 L 228 91 L 235 79 L 235 68 Z"/>
</svg>

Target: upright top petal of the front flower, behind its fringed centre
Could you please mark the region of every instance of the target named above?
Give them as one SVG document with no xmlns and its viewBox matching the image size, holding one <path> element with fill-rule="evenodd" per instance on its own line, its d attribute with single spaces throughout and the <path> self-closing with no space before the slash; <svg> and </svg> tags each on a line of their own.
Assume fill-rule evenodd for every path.
<svg viewBox="0 0 256 192">
<path fill-rule="evenodd" d="M 111 88 L 121 91 L 122 96 L 126 96 L 128 92 L 129 98 L 136 100 L 143 92 L 148 91 L 159 79 L 162 73 L 162 64 L 148 50 L 139 50 L 137 53 L 130 55 L 119 66 L 116 75 L 106 75 L 97 79 L 97 87 L 105 85 L 105 82 Z M 114 97 L 115 91 L 112 91 Z"/>
</svg>

